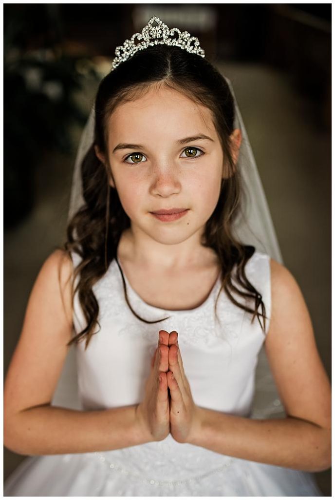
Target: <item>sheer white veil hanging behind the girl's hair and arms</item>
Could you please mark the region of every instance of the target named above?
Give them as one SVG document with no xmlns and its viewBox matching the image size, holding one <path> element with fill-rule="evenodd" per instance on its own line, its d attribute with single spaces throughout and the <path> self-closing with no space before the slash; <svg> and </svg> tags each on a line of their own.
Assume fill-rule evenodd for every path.
<svg viewBox="0 0 335 500">
<path fill-rule="evenodd" d="M 244 199 L 242 214 L 233 225 L 234 234 L 245 244 L 252 244 L 257 250 L 268 253 L 275 260 L 283 263 L 276 232 L 272 223 L 264 189 L 258 174 L 257 165 L 249 143 L 241 113 L 235 98 L 232 84 L 228 78 L 230 90 L 234 96 L 235 122 L 234 128 L 240 128 L 242 142 L 239 151 L 237 168 L 241 171 Z M 82 132 L 78 152 L 75 160 L 72 189 L 70 197 L 70 218 L 83 204 L 81 186 L 81 162 L 93 143 L 94 137 L 94 107 Z M 77 374 L 74 347 L 66 358 L 61 377 L 54 394 L 53 405 L 81 409 L 77 395 Z M 255 377 L 255 397 L 253 402 L 252 418 L 281 417 L 285 415 L 284 407 L 279 399 L 277 388 L 270 371 L 264 345 L 259 352 Z"/>
</svg>

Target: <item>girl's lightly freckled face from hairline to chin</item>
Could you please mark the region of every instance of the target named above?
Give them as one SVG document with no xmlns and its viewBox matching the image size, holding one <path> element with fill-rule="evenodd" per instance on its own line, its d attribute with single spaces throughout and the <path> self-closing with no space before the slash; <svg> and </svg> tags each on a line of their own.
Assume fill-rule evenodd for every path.
<svg viewBox="0 0 335 500">
<path fill-rule="evenodd" d="M 223 176 L 223 151 L 209 109 L 175 90 L 150 88 L 114 110 L 108 133 L 110 183 L 133 232 L 163 244 L 191 236 L 200 241 Z M 151 213 L 162 208 L 188 211 L 165 222 Z"/>
</svg>

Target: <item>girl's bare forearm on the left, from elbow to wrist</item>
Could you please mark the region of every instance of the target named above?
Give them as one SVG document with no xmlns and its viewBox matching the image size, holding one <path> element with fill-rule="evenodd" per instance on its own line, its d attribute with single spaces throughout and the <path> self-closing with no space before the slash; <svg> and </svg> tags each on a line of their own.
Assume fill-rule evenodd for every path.
<svg viewBox="0 0 335 500">
<path fill-rule="evenodd" d="M 105 451 L 148 442 L 135 405 L 92 411 L 39 406 L 17 413 L 5 428 L 5 446 L 22 455 Z"/>
</svg>

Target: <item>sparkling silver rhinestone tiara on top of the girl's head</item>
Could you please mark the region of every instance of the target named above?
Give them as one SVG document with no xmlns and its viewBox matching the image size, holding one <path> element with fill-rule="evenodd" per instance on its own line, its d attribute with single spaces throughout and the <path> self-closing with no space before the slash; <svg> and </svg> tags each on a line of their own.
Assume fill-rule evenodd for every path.
<svg viewBox="0 0 335 500">
<path fill-rule="evenodd" d="M 155 21 L 158 24 L 157 26 L 153 26 Z M 178 35 L 177 38 L 175 33 Z M 135 41 L 136 38 L 139 43 Z M 143 50 L 144 48 L 158 44 L 176 45 L 192 54 L 198 54 L 201 57 L 205 56 L 205 51 L 199 46 L 199 40 L 196 36 L 191 36 L 188 31 L 181 32 L 178 28 L 170 29 L 159 17 L 153 15 L 144 26 L 141 33 L 134 33 L 130 40 L 127 39 L 123 45 L 116 47 L 116 57 L 112 61 L 111 71 L 113 71 L 120 62 L 126 61 L 138 50 Z"/>
</svg>

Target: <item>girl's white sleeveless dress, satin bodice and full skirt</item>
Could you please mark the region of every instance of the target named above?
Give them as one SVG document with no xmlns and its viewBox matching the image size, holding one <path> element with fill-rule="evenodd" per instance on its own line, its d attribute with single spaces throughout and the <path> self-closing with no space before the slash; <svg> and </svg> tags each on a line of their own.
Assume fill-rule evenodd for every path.
<svg viewBox="0 0 335 500">
<path fill-rule="evenodd" d="M 80 257 L 72 255 L 77 265 Z M 120 264 L 121 265 L 121 264 Z M 271 315 L 270 257 L 255 251 L 246 275 L 262 294 L 266 333 Z M 125 276 L 125 274 L 124 274 Z M 132 289 L 129 309 L 117 262 L 94 285 L 101 329 L 87 350 L 76 345 L 79 399 L 83 410 L 136 404 L 143 399 L 158 331 L 176 330 L 195 404 L 252 417 L 255 368 L 265 335 L 255 318 L 234 305 L 218 276 L 207 299 L 190 310 L 153 307 Z M 238 301 L 241 297 L 236 296 Z M 78 297 L 74 325 L 85 325 Z M 118 450 L 30 456 L 7 478 L 5 496 L 324 496 L 314 474 L 216 453 L 164 440 Z"/>
</svg>

